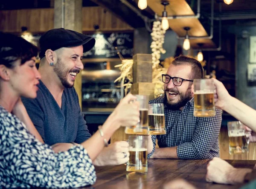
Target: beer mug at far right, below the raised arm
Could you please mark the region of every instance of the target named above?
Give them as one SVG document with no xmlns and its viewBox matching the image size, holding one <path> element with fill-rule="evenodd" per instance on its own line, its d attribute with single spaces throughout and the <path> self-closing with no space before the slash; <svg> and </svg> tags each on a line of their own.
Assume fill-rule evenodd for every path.
<svg viewBox="0 0 256 189">
<path fill-rule="evenodd" d="M 248 151 L 245 135 L 245 125 L 239 121 L 227 122 L 229 137 L 229 153 L 242 154 Z"/>
</svg>

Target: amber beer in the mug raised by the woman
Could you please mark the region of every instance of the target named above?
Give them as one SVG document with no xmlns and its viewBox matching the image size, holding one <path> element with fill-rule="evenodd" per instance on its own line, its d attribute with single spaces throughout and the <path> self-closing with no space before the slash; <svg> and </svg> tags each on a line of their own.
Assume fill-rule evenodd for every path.
<svg viewBox="0 0 256 189">
<path fill-rule="evenodd" d="M 148 109 L 140 110 L 140 122 L 137 125 L 126 127 L 126 134 L 148 134 Z"/>
</svg>

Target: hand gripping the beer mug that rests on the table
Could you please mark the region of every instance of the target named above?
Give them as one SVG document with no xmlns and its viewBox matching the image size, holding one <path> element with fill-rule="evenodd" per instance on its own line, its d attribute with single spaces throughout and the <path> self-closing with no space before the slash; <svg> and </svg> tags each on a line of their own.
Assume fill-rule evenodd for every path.
<svg viewBox="0 0 256 189">
<path fill-rule="evenodd" d="M 129 161 L 129 144 L 126 141 L 114 142 L 103 148 L 93 161 L 95 166 L 120 165 Z"/>
</svg>

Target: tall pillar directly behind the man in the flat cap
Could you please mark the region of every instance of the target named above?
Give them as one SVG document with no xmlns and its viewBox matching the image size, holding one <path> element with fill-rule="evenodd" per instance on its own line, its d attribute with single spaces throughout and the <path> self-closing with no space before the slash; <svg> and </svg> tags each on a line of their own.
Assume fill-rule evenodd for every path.
<svg viewBox="0 0 256 189">
<path fill-rule="evenodd" d="M 54 1 L 54 28 L 71 29 L 82 33 L 82 0 Z M 74 84 L 82 107 L 82 75 L 76 76 Z"/>
</svg>

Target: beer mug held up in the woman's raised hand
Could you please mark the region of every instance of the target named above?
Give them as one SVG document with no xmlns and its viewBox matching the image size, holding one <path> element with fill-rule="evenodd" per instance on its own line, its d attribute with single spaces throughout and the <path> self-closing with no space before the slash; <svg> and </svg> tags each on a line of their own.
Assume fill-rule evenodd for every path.
<svg viewBox="0 0 256 189">
<path fill-rule="evenodd" d="M 148 134 L 148 96 L 135 95 L 140 102 L 140 120 L 137 125 L 126 126 L 126 134 Z"/>
</svg>

